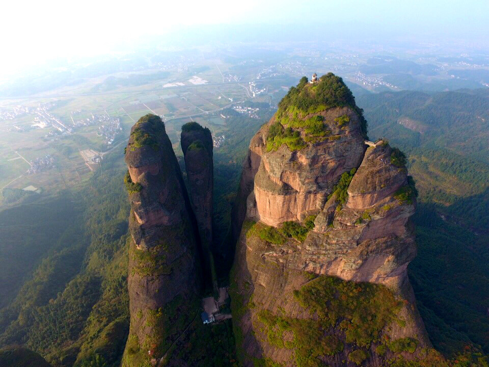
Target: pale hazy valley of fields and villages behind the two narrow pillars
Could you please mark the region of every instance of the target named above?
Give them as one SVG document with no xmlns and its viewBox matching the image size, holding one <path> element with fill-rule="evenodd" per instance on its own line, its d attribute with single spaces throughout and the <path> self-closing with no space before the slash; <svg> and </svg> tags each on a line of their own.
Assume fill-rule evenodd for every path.
<svg viewBox="0 0 489 367">
<path fill-rule="evenodd" d="M 188 121 L 209 127 L 215 136 L 224 135 L 228 127 L 226 120 L 220 117 L 221 112 L 254 98 L 250 98 L 246 82 L 223 83 L 221 71 L 230 65 L 219 66 L 220 70 L 214 63 L 202 66 L 200 70 L 205 71 L 197 73 L 161 73 L 159 80 L 151 76 L 157 74 L 148 74 L 151 77 L 146 78 L 150 82 L 141 85 L 132 83 L 135 74 L 118 73 L 114 74 L 115 79 L 96 77 L 42 95 L 0 100 L 0 189 L 23 189 L 32 185 L 41 192 L 56 192 L 76 188 L 99 167 L 98 163 L 87 164 L 80 151 L 103 155 L 111 149 L 122 149 L 131 126 L 148 113 L 164 119 L 176 151 L 180 149 L 181 126 Z M 279 88 L 279 84 L 274 88 Z M 32 112 L 39 106 L 47 106 L 46 113 L 59 123 L 39 124 L 43 117 Z M 27 107 L 31 112 L 14 119 L 1 118 L 2 111 L 14 111 L 18 107 Z M 73 125 L 75 121 L 88 121 L 102 115 L 120 121 L 121 131 L 111 143 L 101 134 L 100 123 Z M 37 126 L 33 127 L 34 123 Z M 62 127 L 64 131 L 61 131 L 60 126 L 70 130 Z M 30 162 L 46 156 L 53 158 L 51 166 L 31 169 Z"/>
</svg>

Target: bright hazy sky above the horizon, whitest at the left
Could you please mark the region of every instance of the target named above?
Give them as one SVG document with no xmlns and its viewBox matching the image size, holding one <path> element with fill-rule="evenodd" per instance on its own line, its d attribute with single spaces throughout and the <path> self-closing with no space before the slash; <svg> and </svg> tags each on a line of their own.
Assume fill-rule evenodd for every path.
<svg viewBox="0 0 489 367">
<path fill-rule="evenodd" d="M 7 1 L 2 5 L 0 76 L 57 57 L 97 55 L 114 44 L 212 24 L 296 24 L 318 38 L 489 38 L 489 0 Z M 266 40 L 266 35 L 263 35 Z"/>
</svg>

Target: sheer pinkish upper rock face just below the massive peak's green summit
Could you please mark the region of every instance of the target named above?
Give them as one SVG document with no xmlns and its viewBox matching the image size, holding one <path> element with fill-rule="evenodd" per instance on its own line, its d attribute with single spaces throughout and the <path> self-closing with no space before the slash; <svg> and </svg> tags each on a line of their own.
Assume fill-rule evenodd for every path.
<svg viewBox="0 0 489 367">
<path fill-rule="evenodd" d="M 357 113 L 350 108 L 336 108 L 309 114 L 305 119 L 314 116 L 324 118 L 325 129 L 331 132 L 329 138 L 334 139 L 297 151 L 282 145 L 261 154 L 254 182 L 257 220 L 277 226 L 317 213 L 339 176 L 360 165 L 365 147 Z M 334 121 L 341 116 L 350 120 L 343 128 Z M 268 127 L 274 123 L 272 119 Z M 261 137 L 267 132 L 264 129 Z M 264 147 L 266 142 L 261 142 Z"/>
</svg>

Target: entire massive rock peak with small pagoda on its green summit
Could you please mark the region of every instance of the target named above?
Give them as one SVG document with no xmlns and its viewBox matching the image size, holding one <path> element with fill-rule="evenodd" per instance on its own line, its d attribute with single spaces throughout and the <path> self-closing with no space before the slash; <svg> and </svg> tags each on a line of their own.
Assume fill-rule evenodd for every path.
<svg viewBox="0 0 489 367">
<path fill-rule="evenodd" d="M 364 143 L 349 91 L 298 108 L 340 88 L 332 74 L 292 88 L 243 164 L 231 296 L 247 366 L 381 366 L 430 345 L 406 275 L 415 189 L 402 154 Z"/>
</svg>

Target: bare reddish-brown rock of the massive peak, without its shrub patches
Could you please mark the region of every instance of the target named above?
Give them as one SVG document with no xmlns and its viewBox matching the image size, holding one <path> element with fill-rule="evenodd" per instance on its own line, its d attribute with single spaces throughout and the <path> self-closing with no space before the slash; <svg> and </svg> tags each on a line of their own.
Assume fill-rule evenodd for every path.
<svg viewBox="0 0 489 367">
<path fill-rule="evenodd" d="M 319 91 L 328 95 L 330 84 L 336 83 L 335 90 L 344 87 L 330 74 L 316 84 L 301 83 L 289 95 L 295 93 L 300 98 L 309 94 L 314 99 Z M 314 113 L 298 114 L 296 106 L 282 101 L 276 116 L 251 141 L 233 208 L 237 245 L 231 287 L 238 350 L 247 366 L 256 359 L 296 365 L 300 343 L 295 334 L 287 334 L 290 323 L 318 320 L 317 313 L 304 308 L 294 296 L 311 281 L 310 274 L 373 283 L 378 290 L 387 287 L 399 301 L 398 308 L 392 309 L 392 320 L 396 321 L 389 321 L 381 330 L 384 342 L 375 339 L 365 349 L 362 365 L 380 366 L 397 357 L 389 350 L 385 355 L 376 352 L 385 340 L 416 339 L 416 351 L 403 353 L 408 359 L 422 355 L 423 348 L 430 346 L 406 274 L 416 254 L 410 222 L 415 211 L 414 190 L 405 167 L 396 166 L 400 161 L 394 159 L 388 144 L 381 142 L 367 149 L 361 111 L 352 96 L 347 100 L 349 103 L 338 102 L 341 106 L 313 105 L 310 109 L 316 110 Z M 288 119 L 284 119 L 286 113 Z M 317 139 L 310 138 L 303 127 L 314 116 L 323 117 L 325 131 L 317 134 Z M 280 121 L 283 135 L 292 136 L 285 130 L 292 118 L 292 132 L 304 143 L 296 142 L 294 149 L 287 144 L 270 148 L 270 129 L 277 131 L 276 122 Z M 351 179 L 347 190 L 336 186 L 342 174 Z M 316 215 L 314 228 L 303 240 L 281 234 L 284 222 L 295 221 L 305 228 L 311 215 Z M 281 326 L 285 331 L 267 331 L 263 311 L 291 320 L 286 324 L 289 326 Z M 369 317 L 375 318 L 375 313 Z M 307 363 L 312 364 L 307 365 L 356 365 L 348 355 L 359 347 L 348 342 L 340 322 L 320 332 L 324 338 L 334 335 L 344 348 L 333 355 L 309 357 L 312 359 Z M 274 341 L 277 332 L 286 332 L 295 344 Z"/>
</svg>

